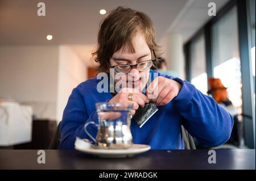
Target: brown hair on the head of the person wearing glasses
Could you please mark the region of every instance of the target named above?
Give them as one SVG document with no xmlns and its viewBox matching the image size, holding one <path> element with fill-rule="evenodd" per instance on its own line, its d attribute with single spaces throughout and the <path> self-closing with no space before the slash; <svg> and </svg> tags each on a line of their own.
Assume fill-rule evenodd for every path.
<svg viewBox="0 0 256 181">
<path fill-rule="evenodd" d="M 155 26 L 150 17 L 143 12 L 119 6 L 101 22 L 97 49 L 92 53 L 95 61 L 100 63 L 98 71 L 109 71 L 109 60 L 119 49 L 127 47 L 129 52 L 134 53 L 132 39 L 138 31 L 144 35 L 151 52 L 154 51 L 159 57 L 161 53 L 155 43 Z"/>
</svg>

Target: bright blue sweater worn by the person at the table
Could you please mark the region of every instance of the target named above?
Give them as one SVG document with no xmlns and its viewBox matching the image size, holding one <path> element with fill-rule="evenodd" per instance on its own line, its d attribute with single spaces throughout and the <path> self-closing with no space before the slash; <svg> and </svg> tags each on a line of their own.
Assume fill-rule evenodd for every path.
<svg viewBox="0 0 256 181">
<path fill-rule="evenodd" d="M 159 76 L 181 83 L 181 90 L 170 103 L 158 106 L 158 111 L 142 128 L 131 120 L 134 144 L 147 144 L 151 149 L 184 149 L 181 123 L 193 137 L 205 145 L 218 146 L 228 141 L 233 118 L 224 108 L 187 81 L 163 74 Z M 95 103 L 113 98 L 109 92 L 97 91 L 97 83 L 100 81 L 94 77 L 73 89 L 63 113 L 59 149 L 74 149 L 76 136 L 91 140 L 84 132 L 84 125 L 88 121 L 98 123 Z M 90 124 L 87 129 L 96 137 L 95 125 Z"/>
</svg>

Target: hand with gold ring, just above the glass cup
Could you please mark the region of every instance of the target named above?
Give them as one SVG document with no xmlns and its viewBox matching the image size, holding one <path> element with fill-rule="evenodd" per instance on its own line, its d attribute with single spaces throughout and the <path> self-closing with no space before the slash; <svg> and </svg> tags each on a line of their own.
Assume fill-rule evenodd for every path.
<svg viewBox="0 0 256 181">
<path fill-rule="evenodd" d="M 129 100 L 129 94 L 133 94 L 132 100 Z M 132 103 L 133 110 L 131 111 L 131 115 L 134 115 L 139 106 L 144 107 L 146 103 L 150 102 L 150 100 L 148 100 L 147 96 L 142 94 L 142 92 L 134 92 L 133 89 L 123 88 L 117 95 L 109 100 L 109 103 L 113 102 Z"/>
</svg>

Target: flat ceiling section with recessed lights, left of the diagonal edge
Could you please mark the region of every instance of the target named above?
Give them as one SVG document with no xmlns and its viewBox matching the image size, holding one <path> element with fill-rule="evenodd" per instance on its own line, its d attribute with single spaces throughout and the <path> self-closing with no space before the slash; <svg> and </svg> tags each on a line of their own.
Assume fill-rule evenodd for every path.
<svg viewBox="0 0 256 181">
<path fill-rule="evenodd" d="M 35 0 L 0 1 L 0 44 L 96 44 L 101 9 L 131 7 L 150 15 L 159 40 L 187 0 L 44 0 L 46 16 Z M 47 42 L 46 35 L 53 40 Z"/>
</svg>

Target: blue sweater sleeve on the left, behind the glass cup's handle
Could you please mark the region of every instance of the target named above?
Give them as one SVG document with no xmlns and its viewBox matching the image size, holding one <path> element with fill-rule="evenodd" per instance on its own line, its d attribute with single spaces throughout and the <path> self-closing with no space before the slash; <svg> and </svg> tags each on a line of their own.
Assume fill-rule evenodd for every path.
<svg viewBox="0 0 256 181">
<path fill-rule="evenodd" d="M 69 96 L 67 106 L 63 113 L 59 149 L 74 149 L 76 137 L 87 138 L 93 141 L 84 131 L 84 125 L 89 121 L 98 123 L 97 112 L 95 111 L 88 115 L 84 98 L 80 94 L 79 87 L 76 87 Z M 87 130 L 93 137 L 96 137 L 96 125 L 89 124 Z"/>
</svg>

